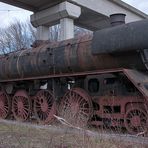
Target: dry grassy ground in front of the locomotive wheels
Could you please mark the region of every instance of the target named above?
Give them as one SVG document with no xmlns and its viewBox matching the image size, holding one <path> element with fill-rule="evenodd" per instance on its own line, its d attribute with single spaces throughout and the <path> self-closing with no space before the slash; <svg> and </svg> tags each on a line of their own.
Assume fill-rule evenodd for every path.
<svg viewBox="0 0 148 148">
<path fill-rule="evenodd" d="M 147 148 L 146 142 L 111 135 L 88 134 L 63 126 L 42 126 L 0 120 L 0 148 Z M 138 138 L 138 137 L 137 137 Z M 118 140 L 117 140 L 118 139 Z M 127 137 L 128 139 L 128 137 Z"/>
</svg>

